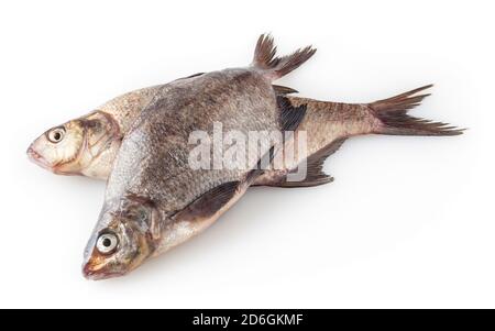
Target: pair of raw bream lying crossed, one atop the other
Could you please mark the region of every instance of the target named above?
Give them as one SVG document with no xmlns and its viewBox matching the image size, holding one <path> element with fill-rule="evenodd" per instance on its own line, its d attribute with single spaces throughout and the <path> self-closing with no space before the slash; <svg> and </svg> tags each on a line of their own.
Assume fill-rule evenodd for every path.
<svg viewBox="0 0 495 331">
<path fill-rule="evenodd" d="M 430 86 L 371 103 L 337 103 L 294 97 L 297 91 L 273 84 L 315 52 L 306 47 L 278 57 L 273 38 L 262 35 L 248 67 L 131 91 L 37 137 L 28 154 L 40 166 L 55 174 L 108 179 L 103 207 L 85 251 L 84 275 L 102 279 L 131 272 L 204 231 L 250 186 L 308 187 L 331 181 L 322 172 L 323 162 L 350 136 L 462 133 L 408 114 L 428 96 L 418 93 Z M 193 168 L 191 133 L 211 132 L 216 123 L 244 136 L 294 134 L 282 147 L 258 146 L 256 157 L 248 157 L 244 167 Z M 270 163 L 285 154 L 289 144 L 298 146 L 302 137 L 306 153 L 295 153 L 276 169 L 261 166 L 263 159 Z M 215 153 L 215 148 L 207 151 L 207 155 Z M 302 163 L 306 176 L 289 180 Z"/>
</svg>

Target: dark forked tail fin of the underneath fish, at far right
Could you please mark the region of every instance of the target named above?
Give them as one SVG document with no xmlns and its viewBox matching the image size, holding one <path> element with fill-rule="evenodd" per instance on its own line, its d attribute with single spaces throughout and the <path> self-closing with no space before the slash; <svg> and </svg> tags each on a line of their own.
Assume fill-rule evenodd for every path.
<svg viewBox="0 0 495 331">
<path fill-rule="evenodd" d="M 459 129 L 442 122 L 415 118 L 407 112 L 419 106 L 429 93 L 417 95 L 432 85 L 427 85 L 398 96 L 369 103 L 369 108 L 380 125 L 374 133 L 391 135 L 458 135 L 465 129 Z"/>
</svg>

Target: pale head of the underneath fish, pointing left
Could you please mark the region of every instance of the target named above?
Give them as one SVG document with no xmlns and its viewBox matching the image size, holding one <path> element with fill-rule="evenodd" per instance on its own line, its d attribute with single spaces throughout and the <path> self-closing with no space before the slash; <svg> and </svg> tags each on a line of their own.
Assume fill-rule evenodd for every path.
<svg viewBox="0 0 495 331">
<path fill-rule="evenodd" d="M 109 115 L 96 111 L 47 130 L 26 153 L 31 161 L 52 173 L 82 175 L 108 148 L 109 141 L 119 137 L 116 125 Z"/>
</svg>

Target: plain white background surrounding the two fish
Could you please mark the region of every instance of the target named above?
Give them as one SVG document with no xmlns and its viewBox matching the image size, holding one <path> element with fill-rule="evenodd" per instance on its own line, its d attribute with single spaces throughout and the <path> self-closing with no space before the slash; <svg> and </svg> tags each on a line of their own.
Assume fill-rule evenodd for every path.
<svg viewBox="0 0 495 331">
<path fill-rule="evenodd" d="M 495 308 L 493 1 L 9 1 L 0 4 L 0 307 Z M 280 80 L 364 102 L 435 82 L 414 114 L 457 137 L 362 136 L 336 181 L 252 189 L 129 276 L 86 280 L 105 184 L 25 150 L 122 92 L 244 66 L 258 34 L 316 56 Z"/>
</svg>

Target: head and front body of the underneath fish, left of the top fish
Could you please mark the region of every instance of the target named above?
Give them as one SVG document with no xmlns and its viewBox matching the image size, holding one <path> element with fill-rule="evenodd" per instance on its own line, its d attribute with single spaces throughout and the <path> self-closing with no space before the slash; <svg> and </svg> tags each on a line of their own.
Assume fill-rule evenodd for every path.
<svg viewBox="0 0 495 331">
<path fill-rule="evenodd" d="M 29 146 L 29 158 L 54 174 L 107 180 L 123 136 L 162 87 L 124 93 L 46 130 Z"/>
</svg>

